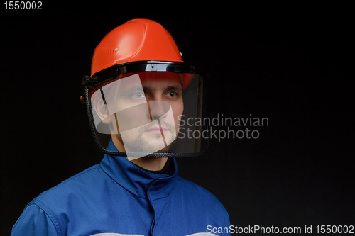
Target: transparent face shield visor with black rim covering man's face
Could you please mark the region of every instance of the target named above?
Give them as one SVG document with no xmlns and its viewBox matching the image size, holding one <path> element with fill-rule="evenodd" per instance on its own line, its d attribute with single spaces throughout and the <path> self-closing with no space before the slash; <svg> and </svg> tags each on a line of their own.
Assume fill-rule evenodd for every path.
<svg viewBox="0 0 355 236">
<path fill-rule="evenodd" d="M 129 62 L 84 77 L 95 143 L 128 157 L 194 157 L 207 151 L 204 69 L 184 62 Z M 107 150 L 112 140 L 119 152 Z"/>
</svg>

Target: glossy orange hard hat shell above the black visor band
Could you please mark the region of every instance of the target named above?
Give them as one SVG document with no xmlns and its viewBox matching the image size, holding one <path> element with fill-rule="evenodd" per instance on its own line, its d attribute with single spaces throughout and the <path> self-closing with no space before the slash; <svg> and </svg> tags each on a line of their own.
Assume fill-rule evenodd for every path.
<svg viewBox="0 0 355 236">
<path fill-rule="evenodd" d="M 91 74 L 134 61 L 182 62 L 173 37 L 159 23 L 134 19 L 114 28 L 99 43 L 92 57 Z"/>
</svg>

